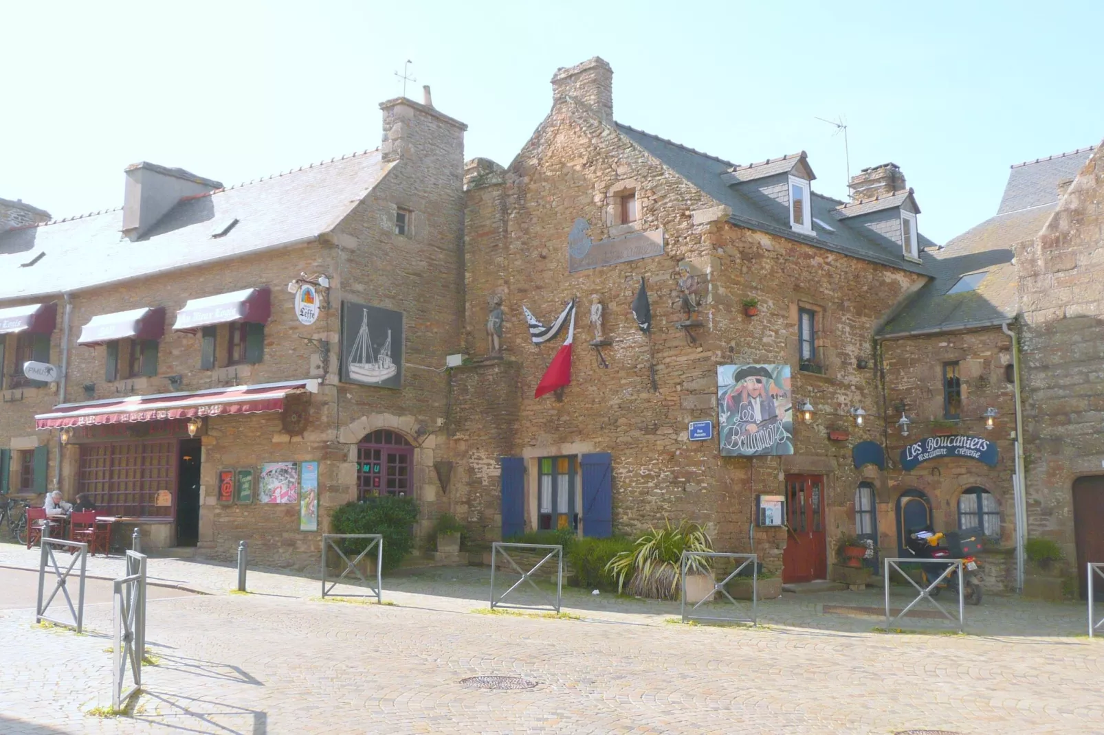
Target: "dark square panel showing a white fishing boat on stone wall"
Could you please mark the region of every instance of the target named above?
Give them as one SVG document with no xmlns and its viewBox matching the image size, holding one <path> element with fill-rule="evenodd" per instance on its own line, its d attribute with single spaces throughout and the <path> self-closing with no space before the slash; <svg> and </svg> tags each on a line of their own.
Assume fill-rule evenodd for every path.
<svg viewBox="0 0 1104 735">
<path fill-rule="evenodd" d="M 367 303 L 341 303 L 341 381 L 403 386 L 403 312 Z"/>
</svg>

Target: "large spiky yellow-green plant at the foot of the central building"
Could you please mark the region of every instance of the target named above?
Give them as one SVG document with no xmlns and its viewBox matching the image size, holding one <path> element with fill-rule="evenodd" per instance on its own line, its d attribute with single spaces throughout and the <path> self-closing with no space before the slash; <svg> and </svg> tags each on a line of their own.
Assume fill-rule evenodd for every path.
<svg viewBox="0 0 1104 735">
<path fill-rule="evenodd" d="M 697 604 L 713 598 L 713 569 L 696 552 L 713 550 L 713 542 L 697 523 L 667 521 L 658 531 L 652 528 L 636 540 L 633 548 L 614 556 L 606 568 L 617 579 L 617 592 L 639 597 L 679 599 L 681 596 L 682 552 L 687 561 L 687 601 Z M 627 584 L 626 584 L 627 582 Z"/>
</svg>

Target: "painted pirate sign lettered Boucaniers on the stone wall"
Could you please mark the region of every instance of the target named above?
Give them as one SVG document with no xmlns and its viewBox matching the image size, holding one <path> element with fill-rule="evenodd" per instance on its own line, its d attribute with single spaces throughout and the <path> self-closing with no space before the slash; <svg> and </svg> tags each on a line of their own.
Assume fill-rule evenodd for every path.
<svg viewBox="0 0 1104 735">
<path fill-rule="evenodd" d="M 718 365 L 716 409 L 722 456 L 794 454 L 789 365 Z"/>
</svg>

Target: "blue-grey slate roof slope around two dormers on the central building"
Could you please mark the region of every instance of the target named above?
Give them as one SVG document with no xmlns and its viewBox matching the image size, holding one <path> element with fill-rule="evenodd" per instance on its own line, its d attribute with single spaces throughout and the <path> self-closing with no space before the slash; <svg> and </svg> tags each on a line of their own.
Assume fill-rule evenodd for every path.
<svg viewBox="0 0 1104 735">
<path fill-rule="evenodd" d="M 617 124 L 617 129 L 705 194 L 731 207 L 732 216 L 729 221 L 733 224 L 782 235 L 863 260 L 927 275 L 927 268 L 923 264 L 905 260 L 901 246 L 893 241 L 882 238 L 884 239 L 882 242 L 867 227 L 851 226 L 846 220 L 838 221 L 832 216 L 832 212 L 842 203 L 839 200 L 813 192 L 810 200 L 814 220 L 828 224 L 832 230 L 829 231 L 814 222 L 816 235 L 805 235 L 790 228 L 789 214 L 785 206 L 765 206 L 739 191 L 739 187 L 725 183 L 724 177 L 732 172 L 735 163 L 620 122 Z M 935 245 L 923 235 L 920 235 L 919 241 L 922 248 Z"/>
</svg>

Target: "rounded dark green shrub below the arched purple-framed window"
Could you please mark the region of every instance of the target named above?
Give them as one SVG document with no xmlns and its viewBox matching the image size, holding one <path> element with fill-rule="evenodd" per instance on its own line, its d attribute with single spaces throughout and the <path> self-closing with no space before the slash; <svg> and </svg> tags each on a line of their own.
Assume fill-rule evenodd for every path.
<svg viewBox="0 0 1104 735">
<path fill-rule="evenodd" d="M 383 571 L 399 566 L 414 550 L 414 522 L 418 508 L 413 498 L 381 496 L 333 509 L 333 533 L 379 533 L 383 536 Z M 344 539 L 341 551 L 359 554 L 371 543 L 368 539 Z M 369 552 L 371 556 L 375 552 Z M 352 557 L 350 557 L 352 558 Z"/>
</svg>

